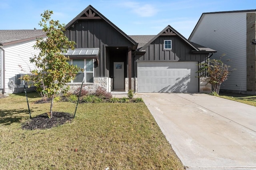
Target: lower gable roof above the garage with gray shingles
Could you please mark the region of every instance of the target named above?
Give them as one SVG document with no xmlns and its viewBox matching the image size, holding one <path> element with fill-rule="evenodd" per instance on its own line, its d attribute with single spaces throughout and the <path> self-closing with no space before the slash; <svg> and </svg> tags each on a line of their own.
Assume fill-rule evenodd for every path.
<svg viewBox="0 0 256 170">
<path fill-rule="evenodd" d="M 190 45 L 190 47 L 192 47 L 194 50 L 192 50 L 193 53 L 215 53 L 216 51 L 207 47 L 203 47 L 201 45 L 198 45 L 196 43 L 192 43 L 190 41 L 188 41 L 188 39 L 186 39 L 185 37 L 183 37 L 178 31 L 176 31 L 173 27 L 171 27 L 170 25 L 168 25 L 167 27 L 165 27 L 160 33 L 158 33 L 158 35 L 144 35 L 145 37 L 143 37 L 143 35 L 137 35 L 137 36 L 131 36 L 134 39 L 138 39 L 141 40 L 138 47 L 142 47 L 139 49 L 139 51 L 142 51 L 144 49 L 146 49 L 146 47 L 148 47 L 148 45 L 150 45 L 156 38 L 158 38 L 160 35 L 177 35 L 178 37 L 180 37 L 181 39 L 183 39 L 188 45 Z M 154 37 L 153 37 L 154 36 Z M 146 40 L 148 40 L 150 37 L 153 37 L 150 41 L 146 42 Z M 137 41 L 138 42 L 138 41 Z"/>
</svg>

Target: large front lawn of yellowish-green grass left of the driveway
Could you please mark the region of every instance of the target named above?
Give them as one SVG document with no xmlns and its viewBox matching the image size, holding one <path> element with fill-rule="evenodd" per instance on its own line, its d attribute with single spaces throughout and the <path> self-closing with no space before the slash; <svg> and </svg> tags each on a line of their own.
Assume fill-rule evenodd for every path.
<svg viewBox="0 0 256 170">
<path fill-rule="evenodd" d="M 50 107 L 32 104 L 35 95 L 28 94 L 32 117 Z M 21 129 L 29 119 L 24 96 L 0 103 L 0 169 L 184 169 L 144 103 L 79 104 L 71 123 L 34 131 Z M 54 111 L 75 107 L 54 103 Z"/>
</svg>

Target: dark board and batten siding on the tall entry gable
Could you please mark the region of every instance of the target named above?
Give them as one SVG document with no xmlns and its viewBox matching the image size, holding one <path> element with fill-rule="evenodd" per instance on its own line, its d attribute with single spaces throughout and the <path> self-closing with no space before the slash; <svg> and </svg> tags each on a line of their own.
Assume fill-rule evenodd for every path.
<svg viewBox="0 0 256 170">
<path fill-rule="evenodd" d="M 109 68 L 112 68 L 109 65 L 112 63 L 105 58 L 108 56 L 105 47 L 132 47 L 128 39 L 101 19 L 78 20 L 65 31 L 65 35 L 76 42 L 76 48 L 100 48 L 99 66 L 94 68 L 96 77 L 109 76 Z"/>
</svg>

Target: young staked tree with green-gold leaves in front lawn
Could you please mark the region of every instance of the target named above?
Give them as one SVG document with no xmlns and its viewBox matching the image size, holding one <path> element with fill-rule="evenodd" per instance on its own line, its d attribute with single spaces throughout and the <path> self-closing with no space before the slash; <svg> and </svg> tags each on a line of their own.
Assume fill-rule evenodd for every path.
<svg viewBox="0 0 256 170">
<path fill-rule="evenodd" d="M 38 56 L 30 58 L 31 63 L 35 63 L 38 69 L 32 70 L 31 75 L 23 76 L 26 81 L 32 81 L 33 85 L 43 95 L 51 100 L 49 117 L 52 118 L 52 108 L 54 95 L 62 92 L 65 93 L 69 86 L 67 83 L 75 78 L 81 68 L 69 65 L 69 58 L 62 53 L 66 53 L 68 48 L 74 49 L 74 41 L 68 41 L 64 35 L 64 24 L 59 21 L 50 20 L 52 11 L 44 11 L 42 21 L 39 25 L 43 27 L 47 38 L 39 38 L 34 45 L 35 49 L 40 50 Z"/>
</svg>

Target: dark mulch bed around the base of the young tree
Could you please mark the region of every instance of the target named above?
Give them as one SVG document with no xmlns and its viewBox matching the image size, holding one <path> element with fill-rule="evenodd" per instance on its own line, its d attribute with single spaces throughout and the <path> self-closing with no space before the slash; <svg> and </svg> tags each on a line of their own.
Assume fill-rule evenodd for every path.
<svg viewBox="0 0 256 170">
<path fill-rule="evenodd" d="M 71 122 L 73 116 L 70 113 L 65 112 L 52 112 L 52 118 L 49 119 L 47 113 L 43 113 L 36 117 L 33 117 L 28 122 L 22 125 L 22 129 L 34 130 L 34 129 L 50 129 L 59 125 L 63 125 L 66 122 Z"/>
</svg>

